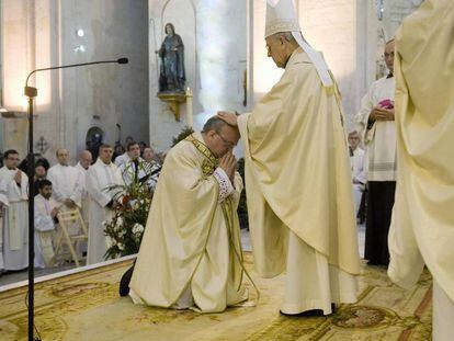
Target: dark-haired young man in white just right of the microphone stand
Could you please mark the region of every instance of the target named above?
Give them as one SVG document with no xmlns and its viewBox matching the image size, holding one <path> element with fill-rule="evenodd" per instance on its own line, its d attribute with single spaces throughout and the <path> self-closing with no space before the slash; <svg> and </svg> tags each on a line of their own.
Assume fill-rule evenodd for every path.
<svg viewBox="0 0 454 341">
<path fill-rule="evenodd" d="M 35 268 L 48 268 L 54 262 L 55 218 L 59 212 L 52 197 L 52 182 L 41 180 L 35 196 Z"/>
</svg>

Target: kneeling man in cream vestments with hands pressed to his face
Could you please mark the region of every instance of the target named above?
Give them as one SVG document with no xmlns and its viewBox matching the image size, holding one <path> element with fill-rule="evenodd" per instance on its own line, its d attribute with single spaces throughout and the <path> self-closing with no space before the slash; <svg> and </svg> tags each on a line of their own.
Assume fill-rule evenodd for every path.
<svg viewBox="0 0 454 341">
<path fill-rule="evenodd" d="M 216 312 L 247 298 L 238 139 L 236 127 L 212 117 L 168 152 L 129 285 L 134 303 Z"/>
</svg>

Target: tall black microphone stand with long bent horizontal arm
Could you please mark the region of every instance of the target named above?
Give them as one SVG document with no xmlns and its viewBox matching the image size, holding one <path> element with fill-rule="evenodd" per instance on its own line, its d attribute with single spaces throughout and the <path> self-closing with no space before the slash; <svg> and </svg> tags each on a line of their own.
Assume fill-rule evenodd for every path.
<svg viewBox="0 0 454 341">
<path fill-rule="evenodd" d="M 95 65 L 95 64 L 127 64 L 127 58 L 120 58 L 116 60 L 101 60 L 101 61 L 91 61 L 91 62 L 81 62 L 81 64 L 71 64 L 64 66 L 56 66 L 50 68 L 35 69 L 29 73 L 25 80 L 25 90 L 24 94 L 29 98 L 29 341 L 36 341 L 39 339 L 33 338 L 34 329 L 34 259 L 35 259 L 35 155 L 33 152 L 33 99 L 37 96 L 37 89 L 34 87 L 29 87 L 30 77 L 38 71 L 55 70 L 55 69 L 66 69 L 75 68 L 80 66 Z"/>
</svg>

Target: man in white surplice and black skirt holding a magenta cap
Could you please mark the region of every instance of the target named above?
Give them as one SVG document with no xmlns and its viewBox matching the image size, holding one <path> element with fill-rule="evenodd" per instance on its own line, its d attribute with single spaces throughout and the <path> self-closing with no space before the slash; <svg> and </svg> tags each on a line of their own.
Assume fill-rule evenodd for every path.
<svg viewBox="0 0 454 341">
<path fill-rule="evenodd" d="M 394 45 L 394 41 L 388 42 L 384 53 L 389 73 L 371 86 L 356 114 L 357 130 L 368 162 L 364 258 L 375 265 L 389 262 L 387 238 L 396 191 Z"/>
</svg>

